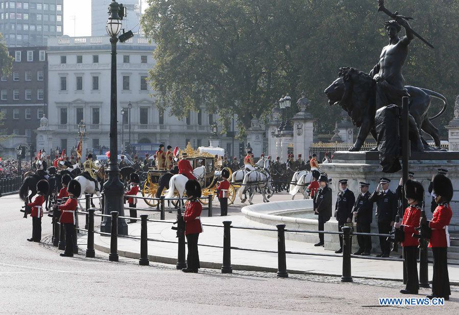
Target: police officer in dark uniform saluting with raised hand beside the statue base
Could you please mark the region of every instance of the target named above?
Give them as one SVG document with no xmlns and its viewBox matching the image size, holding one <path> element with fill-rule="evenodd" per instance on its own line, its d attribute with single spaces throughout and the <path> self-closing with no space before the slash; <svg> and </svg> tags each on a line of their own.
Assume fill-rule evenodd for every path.
<svg viewBox="0 0 459 315">
<path fill-rule="evenodd" d="M 389 189 L 391 180 L 386 177 L 379 179 L 379 185 L 370 196 L 371 202 L 376 202 L 376 218 L 378 219 L 378 232 L 380 234 L 389 234 L 395 222 L 395 216 L 398 213 L 397 195 Z M 391 242 L 387 237 L 379 237 L 379 246 L 381 253 L 376 257 L 389 257 L 391 252 Z"/>
</svg>

